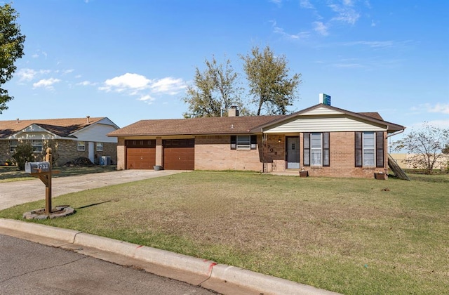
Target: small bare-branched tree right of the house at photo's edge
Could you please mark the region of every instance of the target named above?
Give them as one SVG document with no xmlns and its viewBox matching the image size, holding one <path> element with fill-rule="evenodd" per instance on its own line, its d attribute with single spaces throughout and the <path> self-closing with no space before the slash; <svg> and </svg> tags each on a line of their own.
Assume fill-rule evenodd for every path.
<svg viewBox="0 0 449 295">
<path fill-rule="evenodd" d="M 424 169 L 424 173 L 431 174 L 434 165 L 443 157 L 449 145 L 449 129 L 441 129 L 424 123 L 422 129 L 411 131 L 403 139 L 393 143 L 395 150 L 407 150 L 410 164 L 415 169 Z"/>
</svg>

